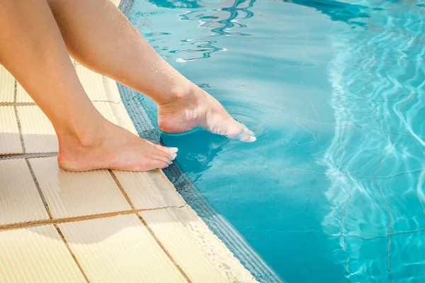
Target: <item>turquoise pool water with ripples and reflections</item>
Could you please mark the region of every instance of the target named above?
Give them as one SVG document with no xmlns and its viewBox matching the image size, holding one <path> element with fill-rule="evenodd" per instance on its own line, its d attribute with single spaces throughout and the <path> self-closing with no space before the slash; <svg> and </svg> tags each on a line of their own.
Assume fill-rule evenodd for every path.
<svg viewBox="0 0 425 283">
<path fill-rule="evenodd" d="M 157 52 L 256 132 L 162 141 L 286 282 L 425 282 L 424 7 L 135 1 Z"/>
</svg>

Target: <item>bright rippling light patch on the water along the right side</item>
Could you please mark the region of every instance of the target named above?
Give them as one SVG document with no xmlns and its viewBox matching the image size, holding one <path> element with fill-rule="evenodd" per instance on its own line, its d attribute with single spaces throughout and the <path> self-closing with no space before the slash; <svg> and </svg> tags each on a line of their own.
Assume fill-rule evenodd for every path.
<svg viewBox="0 0 425 283">
<path fill-rule="evenodd" d="M 367 28 L 334 34 L 329 77 L 336 129 L 323 158 L 333 207 L 322 224 L 325 233 L 341 235 L 335 255 L 351 281 L 421 282 L 424 13 L 375 5 L 379 13 Z"/>
</svg>

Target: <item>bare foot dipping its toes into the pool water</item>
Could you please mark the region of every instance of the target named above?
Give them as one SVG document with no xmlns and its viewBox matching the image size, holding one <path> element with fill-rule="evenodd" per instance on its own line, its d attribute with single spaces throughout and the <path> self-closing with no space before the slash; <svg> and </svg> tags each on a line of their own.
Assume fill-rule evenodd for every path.
<svg viewBox="0 0 425 283">
<path fill-rule="evenodd" d="M 174 134 L 200 127 L 240 141 L 256 141 L 253 132 L 234 120 L 215 98 L 198 86 L 178 99 L 159 104 L 158 125 L 162 132 Z"/>
</svg>

